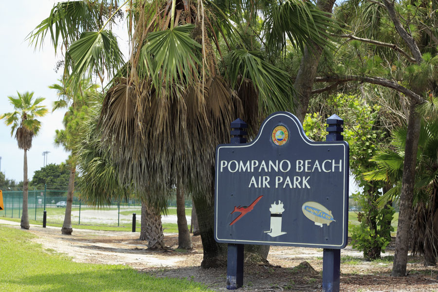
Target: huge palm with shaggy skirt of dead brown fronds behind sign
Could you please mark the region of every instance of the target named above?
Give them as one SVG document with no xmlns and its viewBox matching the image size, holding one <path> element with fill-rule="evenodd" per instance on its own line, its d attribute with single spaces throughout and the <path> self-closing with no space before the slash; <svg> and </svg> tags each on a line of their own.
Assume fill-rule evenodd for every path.
<svg viewBox="0 0 438 292">
<path fill-rule="evenodd" d="M 85 25 L 93 19 L 88 11 L 94 2 L 89 10 L 83 8 L 89 1 L 77 2 L 76 10 L 66 2 L 55 5 L 30 39 L 40 44 L 50 32 L 54 46 L 60 36 L 71 43 L 66 71 L 73 84 L 105 69 L 116 74 L 102 107 L 101 148 L 120 183 L 155 205 L 151 214 L 159 216 L 155 202 L 165 201 L 173 185 L 190 191 L 204 259 L 216 261 L 225 249 L 213 239 L 214 149 L 229 141 L 229 125 L 237 117 L 254 134 L 263 115 L 292 109 L 292 80 L 274 63 L 288 43 L 295 49 L 310 41 L 328 45 L 332 22 L 301 0 L 131 1 L 130 55 L 120 66 L 106 23 L 93 32 Z M 123 5 L 113 7 L 113 14 Z M 54 25 L 60 29 L 50 30 Z"/>
</svg>

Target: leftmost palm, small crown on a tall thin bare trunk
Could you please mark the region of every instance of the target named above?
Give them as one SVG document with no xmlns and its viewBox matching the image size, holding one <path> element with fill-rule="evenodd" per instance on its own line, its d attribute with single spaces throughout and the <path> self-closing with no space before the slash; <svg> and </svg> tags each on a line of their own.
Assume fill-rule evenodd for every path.
<svg viewBox="0 0 438 292">
<path fill-rule="evenodd" d="M 27 209 L 29 181 L 27 179 L 27 150 L 32 147 L 32 138 L 38 134 L 41 123 L 37 117 L 42 117 L 47 113 L 45 106 L 40 103 L 45 99 L 38 97 L 32 100 L 34 92 L 24 92 L 18 96 L 8 96 L 11 105 L 14 106 L 13 112 L 0 115 L 0 119 L 5 119 L 6 126 L 12 125 L 11 136 L 15 132 L 18 148 L 24 150 L 23 163 L 23 213 L 20 226 L 29 229 L 29 214 Z"/>
</svg>

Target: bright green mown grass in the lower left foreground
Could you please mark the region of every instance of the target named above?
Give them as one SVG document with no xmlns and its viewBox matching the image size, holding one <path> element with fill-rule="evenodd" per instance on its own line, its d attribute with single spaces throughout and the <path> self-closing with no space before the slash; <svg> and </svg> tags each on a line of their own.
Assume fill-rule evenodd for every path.
<svg viewBox="0 0 438 292">
<path fill-rule="evenodd" d="M 211 291 L 199 283 L 154 278 L 122 265 L 73 262 L 43 250 L 32 234 L 0 225 L 0 291 Z"/>
</svg>

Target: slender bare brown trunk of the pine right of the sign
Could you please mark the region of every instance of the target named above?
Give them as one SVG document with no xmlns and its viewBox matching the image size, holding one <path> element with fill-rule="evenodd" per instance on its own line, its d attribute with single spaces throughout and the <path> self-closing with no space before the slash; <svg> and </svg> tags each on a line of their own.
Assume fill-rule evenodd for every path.
<svg viewBox="0 0 438 292">
<path fill-rule="evenodd" d="M 404 164 L 402 177 L 402 193 L 400 194 L 400 213 L 397 225 L 396 247 L 392 276 L 406 275 L 406 264 L 409 249 L 409 234 L 414 197 L 415 167 L 417 164 L 418 139 L 420 136 L 420 115 L 415 110 L 416 103 L 411 102 L 409 123 L 407 125 L 406 145 L 404 148 Z"/>
</svg>

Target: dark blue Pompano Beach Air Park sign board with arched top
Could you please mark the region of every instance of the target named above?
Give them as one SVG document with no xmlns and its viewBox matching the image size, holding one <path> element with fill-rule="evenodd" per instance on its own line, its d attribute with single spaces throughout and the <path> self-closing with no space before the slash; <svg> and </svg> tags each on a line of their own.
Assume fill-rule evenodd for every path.
<svg viewBox="0 0 438 292">
<path fill-rule="evenodd" d="M 251 143 L 216 148 L 216 241 L 344 248 L 348 166 L 347 142 L 314 142 L 291 113 L 271 114 Z"/>
</svg>

